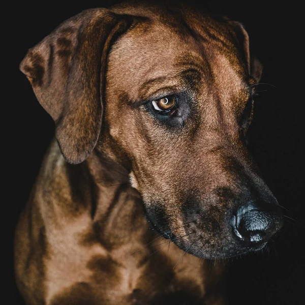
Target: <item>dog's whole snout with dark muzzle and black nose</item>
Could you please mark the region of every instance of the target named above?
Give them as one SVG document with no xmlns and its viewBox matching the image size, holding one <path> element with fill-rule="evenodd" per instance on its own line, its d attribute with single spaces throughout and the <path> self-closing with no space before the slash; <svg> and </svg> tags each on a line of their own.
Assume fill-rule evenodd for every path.
<svg viewBox="0 0 305 305">
<path fill-rule="evenodd" d="M 260 250 L 283 226 L 277 199 L 250 157 L 250 161 L 244 156 L 238 160 L 237 153 L 232 157 L 221 149 L 214 153 L 219 158 L 214 156 L 217 163 L 212 167 L 203 164 L 200 172 L 196 167 L 184 171 L 184 185 L 171 179 L 167 188 L 174 190 L 171 196 L 169 192 L 160 192 L 163 198 L 158 200 L 151 200 L 156 194 L 143 196 L 146 216 L 159 233 L 200 258 L 222 259 Z"/>
</svg>

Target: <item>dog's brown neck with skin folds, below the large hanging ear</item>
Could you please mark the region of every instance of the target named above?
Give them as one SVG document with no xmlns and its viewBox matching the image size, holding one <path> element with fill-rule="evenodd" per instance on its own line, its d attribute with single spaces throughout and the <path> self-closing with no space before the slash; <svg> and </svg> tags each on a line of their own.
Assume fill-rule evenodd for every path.
<svg viewBox="0 0 305 305">
<path fill-rule="evenodd" d="M 54 140 L 38 181 L 39 189 L 48 190 L 39 194 L 47 201 L 41 208 L 47 215 L 54 214 L 53 218 L 57 218 L 56 211 L 60 210 L 58 217 L 68 222 L 83 214 L 90 214 L 92 222 L 108 221 L 119 205 L 120 213 L 135 209 L 143 217 L 141 197 L 130 186 L 129 171 L 108 145 L 97 145 L 84 162 L 71 165 Z"/>
</svg>

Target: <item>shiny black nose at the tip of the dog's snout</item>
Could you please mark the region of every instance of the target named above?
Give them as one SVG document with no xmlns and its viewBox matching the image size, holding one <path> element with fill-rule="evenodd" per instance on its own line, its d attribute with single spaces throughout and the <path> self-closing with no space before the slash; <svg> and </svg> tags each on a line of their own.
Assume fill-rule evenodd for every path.
<svg viewBox="0 0 305 305">
<path fill-rule="evenodd" d="M 272 211 L 258 210 L 252 206 L 241 207 L 233 221 L 235 235 L 248 247 L 268 241 L 282 225 L 283 216 L 278 207 Z"/>
</svg>

